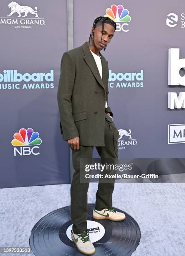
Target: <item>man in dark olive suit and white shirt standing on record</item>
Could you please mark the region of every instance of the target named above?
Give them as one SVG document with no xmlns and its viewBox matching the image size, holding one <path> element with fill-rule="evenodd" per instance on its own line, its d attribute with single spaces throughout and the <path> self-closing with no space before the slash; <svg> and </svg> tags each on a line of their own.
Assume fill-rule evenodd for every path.
<svg viewBox="0 0 185 256">
<path fill-rule="evenodd" d="M 58 85 L 58 107 L 61 134 L 72 149 L 75 170 L 71 182 L 72 240 L 84 254 L 93 254 L 94 245 L 87 230 L 87 192 L 89 182 L 80 182 L 80 159 L 92 159 L 94 146 L 101 158 L 118 160 L 119 132 L 108 104 L 108 61 L 100 53 L 110 43 L 116 23 L 100 16 L 94 20 L 89 41 L 70 51 L 61 59 Z M 125 215 L 112 208 L 114 182 L 99 183 L 93 218 L 124 220 Z"/>
</svg>

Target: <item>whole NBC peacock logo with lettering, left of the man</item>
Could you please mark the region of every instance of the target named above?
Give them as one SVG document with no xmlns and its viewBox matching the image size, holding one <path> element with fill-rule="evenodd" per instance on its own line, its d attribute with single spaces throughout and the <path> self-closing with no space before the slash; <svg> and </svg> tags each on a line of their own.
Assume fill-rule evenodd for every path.
<svg viewBox="0 0 185 256">
<path fill-rule="evenodd" d="M 14 146 L 14 156 L 16 156 L 17 153 L 20 156 L 40 154 L 38 151 L 36 152 L 35 149 L 38 150 L 38 145 L 41 145 L 42 140 L 39 138 L 39 133 L 34 132 L 32 128 L 21 128 L 19 133 L 14 133 L 13 138 L 11 143 Z"/>
</svg>

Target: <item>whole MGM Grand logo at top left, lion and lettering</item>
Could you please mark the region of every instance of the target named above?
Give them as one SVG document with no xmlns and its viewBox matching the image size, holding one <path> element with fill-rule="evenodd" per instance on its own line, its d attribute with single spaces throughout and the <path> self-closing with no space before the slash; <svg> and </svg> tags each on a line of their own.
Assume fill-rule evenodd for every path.
<svg viewBox="0 0 185 256">
<path fill-rule="evenodd" d="M 45 20 L 38 17 L 37 7 L 33 10 L 29 6 L 11 2 L 8 4 L 8 8 L 10 8 L 11 12 L 7 17 L 10 18 L 0 17 L 0 24 L 14 25 L 15 28 L 31 28 L 30 25 L 46 25 Z M 30 14 L 29 18 L 23 18 L 27 17 L 27 14 Z"/>
</svg>

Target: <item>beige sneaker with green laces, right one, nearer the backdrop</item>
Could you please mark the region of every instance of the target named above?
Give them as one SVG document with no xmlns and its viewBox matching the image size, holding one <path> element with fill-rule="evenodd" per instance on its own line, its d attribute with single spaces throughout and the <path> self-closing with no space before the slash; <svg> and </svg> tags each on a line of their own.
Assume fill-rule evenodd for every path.
<svg viewBox="0 0 185 256">
<path fill-rule="evenodd" d="M 94 208 L 92 217 L 96 220 L 108 219 L 108 220 L 114 220 L 114 221 L 124 220 L 126 218 L 124 213 L 117 212 L 112 207 L 108 209 L 104 208 L 101 211 L 98 211 Z"/>
</svg>

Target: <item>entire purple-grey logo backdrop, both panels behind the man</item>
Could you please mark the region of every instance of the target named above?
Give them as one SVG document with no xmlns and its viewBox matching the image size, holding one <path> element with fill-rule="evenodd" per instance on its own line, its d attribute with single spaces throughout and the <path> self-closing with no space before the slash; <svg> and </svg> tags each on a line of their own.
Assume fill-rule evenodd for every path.
<svg viewBox="0 0 185 256">
<path fill-rule="evenodd" d="M 74 0 L 74 47 L 98 16 L 117 23 L 101 53 L 119 157 L 184 158 L 185 2 Z M 1 1 L 0 34 L 0 187 L 70 183 L 57 105 L 66 0 Z"/>
</svg>

